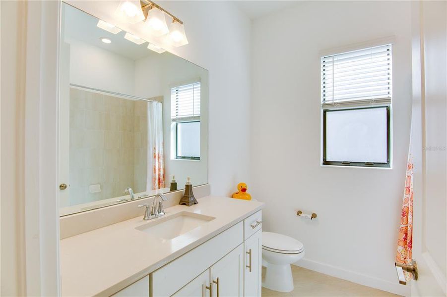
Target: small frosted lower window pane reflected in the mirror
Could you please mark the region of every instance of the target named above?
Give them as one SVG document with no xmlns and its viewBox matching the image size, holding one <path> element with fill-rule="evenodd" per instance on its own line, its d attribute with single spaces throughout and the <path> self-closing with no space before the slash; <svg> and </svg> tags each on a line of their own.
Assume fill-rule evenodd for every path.
<svg viewBox="0 0 447 297">
<path fill-rule="evenodd" d="M 200 157 L 200 122 L 177 124 L 177 155 Z"/>
</svg>

